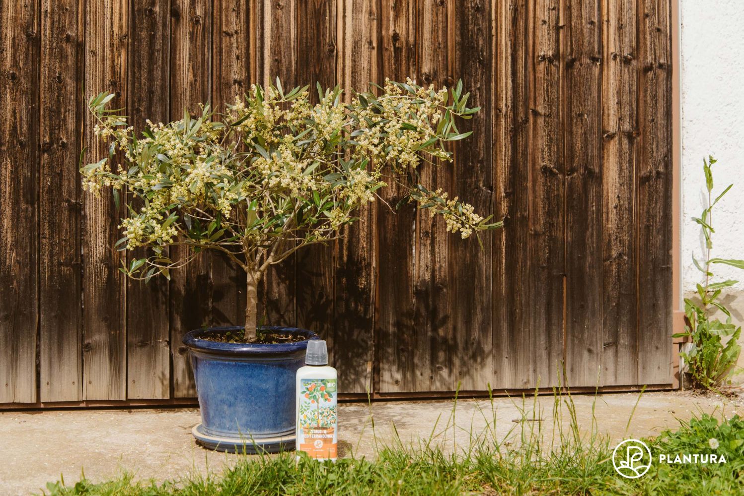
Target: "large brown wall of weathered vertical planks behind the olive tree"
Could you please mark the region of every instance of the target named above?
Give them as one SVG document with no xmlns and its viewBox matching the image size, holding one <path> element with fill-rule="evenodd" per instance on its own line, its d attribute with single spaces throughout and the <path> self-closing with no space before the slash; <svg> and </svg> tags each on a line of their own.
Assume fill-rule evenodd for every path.
<svg viewBox="0 0 744 496">
<path fill-rule="evenodd" d="M 266 277 L 260 311 L 327 339 L 342 392 L 670 385 L 671 4 L 0 1 L 0 405 L 193 398 L 182 336 L 242 323 L 243 275 L 118 272 L 124 211 L 80 189 L 80 150 L 104 152 L 81 95 L 141 129 L 276 76 L 346 98 L 462 79 L 473 134 L 419 173 L 505 220 L 481 248 L 379 203 Z"/>
</svg>

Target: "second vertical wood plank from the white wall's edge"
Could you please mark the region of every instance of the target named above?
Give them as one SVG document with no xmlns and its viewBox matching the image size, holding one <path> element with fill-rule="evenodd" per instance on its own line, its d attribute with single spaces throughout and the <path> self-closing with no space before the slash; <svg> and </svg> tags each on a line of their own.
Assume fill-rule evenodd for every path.
<svg viewBox="0 0 744 496">
<path fill-rule="evenodd" d="M 603 1 L 602 226 L 604 385 L 638 383 L 635 1 Z"/>
</svg>

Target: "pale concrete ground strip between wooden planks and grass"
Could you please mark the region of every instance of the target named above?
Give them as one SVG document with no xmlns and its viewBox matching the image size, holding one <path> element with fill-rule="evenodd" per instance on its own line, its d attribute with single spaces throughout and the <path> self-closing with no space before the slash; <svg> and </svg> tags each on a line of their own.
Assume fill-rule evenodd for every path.
<svg viewBox="0 0 744 496">
<path fill-rule="evenodd" d="M 676 418 L 687 420 L 693 413 L 718 411 L 729 416 L 744 414 L 741 399 L 690 392 L 646 393 L 638 402 L 629 428 L 626 425 L 638 394 L 575 396 L 579 425 L 591 429 L 592 404 L 600 433 L 614 441 L 654 435 Z M 395 426 L 403 443 L 416 445 L 433 437 L 433 443 L 448 451 L 466 448 L 473 434 L 495 432 L 501 441 L 515 434 L 521 420 L 542 419 L 546 436 L 553 431 L 554 397 L 533 399 L 498 398 L 493 411 L 487 399 L 460 399 L 452 425 L 452 400 L 419 402 L 345 403 L 339 411 L 341 456 L 373 457 L 376 446 L 394 442 Z M 536 412 L 533 415 L 533 411 Z M 565 423 L 565 407 L 562 408 Z M 371 425 L 374 419 L 374 432 Z M 494 422 L 494 419 L 496 420 Z M 438 420 L 438 421 L 437 421 Z M 161 481 L 209 470 L 221 471 L 240 455 L 208 451 L 196 446 L 190 434 L 199 422 L 195 408 L 171 410 L 77 410 L 5 412 L 0 414 L 0 495 L 40 493 L 48 481 L 74 483 L 84 469 L 94 481 L 114 477 L 121 470 L 137 477 Z M 487 425 L 496 425 L 493 430 Z M 510 434 L 511 431 L 511 434 Z"/>
</svg>

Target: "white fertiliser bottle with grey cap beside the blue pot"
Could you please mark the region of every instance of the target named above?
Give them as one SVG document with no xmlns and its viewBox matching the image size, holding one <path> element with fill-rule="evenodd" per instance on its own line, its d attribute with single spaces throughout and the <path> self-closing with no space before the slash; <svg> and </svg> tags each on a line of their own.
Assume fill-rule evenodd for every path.
<svg viewBox="0 0 744 496">
<path fill-rule="evenodd" d="M 297 457 L 304 451 L 315 460 L 336 461 L 339 433 L 336 369 L 328 366 L 322 339 L 307 342 L 305 365 L 297 371 Z"/>
</svg>

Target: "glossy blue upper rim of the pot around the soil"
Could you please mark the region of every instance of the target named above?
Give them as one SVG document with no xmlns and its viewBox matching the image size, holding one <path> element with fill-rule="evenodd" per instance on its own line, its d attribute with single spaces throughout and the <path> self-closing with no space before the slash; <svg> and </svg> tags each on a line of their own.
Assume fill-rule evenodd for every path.
<svg viewBox="0 0 744 496">
<path fill-rule="evenodd" d="M 300 329 L 298 327 L 282 327 L 278 325 L 262 325 L 260 329 L 272 330 L 273 332 L 283 334 L 300 334 L 307 337 L 303 341 L 293 343 L 277 344 L 245 344 L 245 343 L 221 343 L 216 341 L 207 341 L 200 339 L 212 333 L 221 333 L 226 330 L 243 330 L 242 326 L 225 326 L 225 327 L 208 327 L 206 329 L 195 329 L 186 333 L 183 344 L 192 351 L 202 353 L 217 353 L 228 355 L 275 355 L 277 353 L 294 353 L 307 349 L 307 342 L 310 339 L 320 339 L 312 330 Z"/>
</svg>

